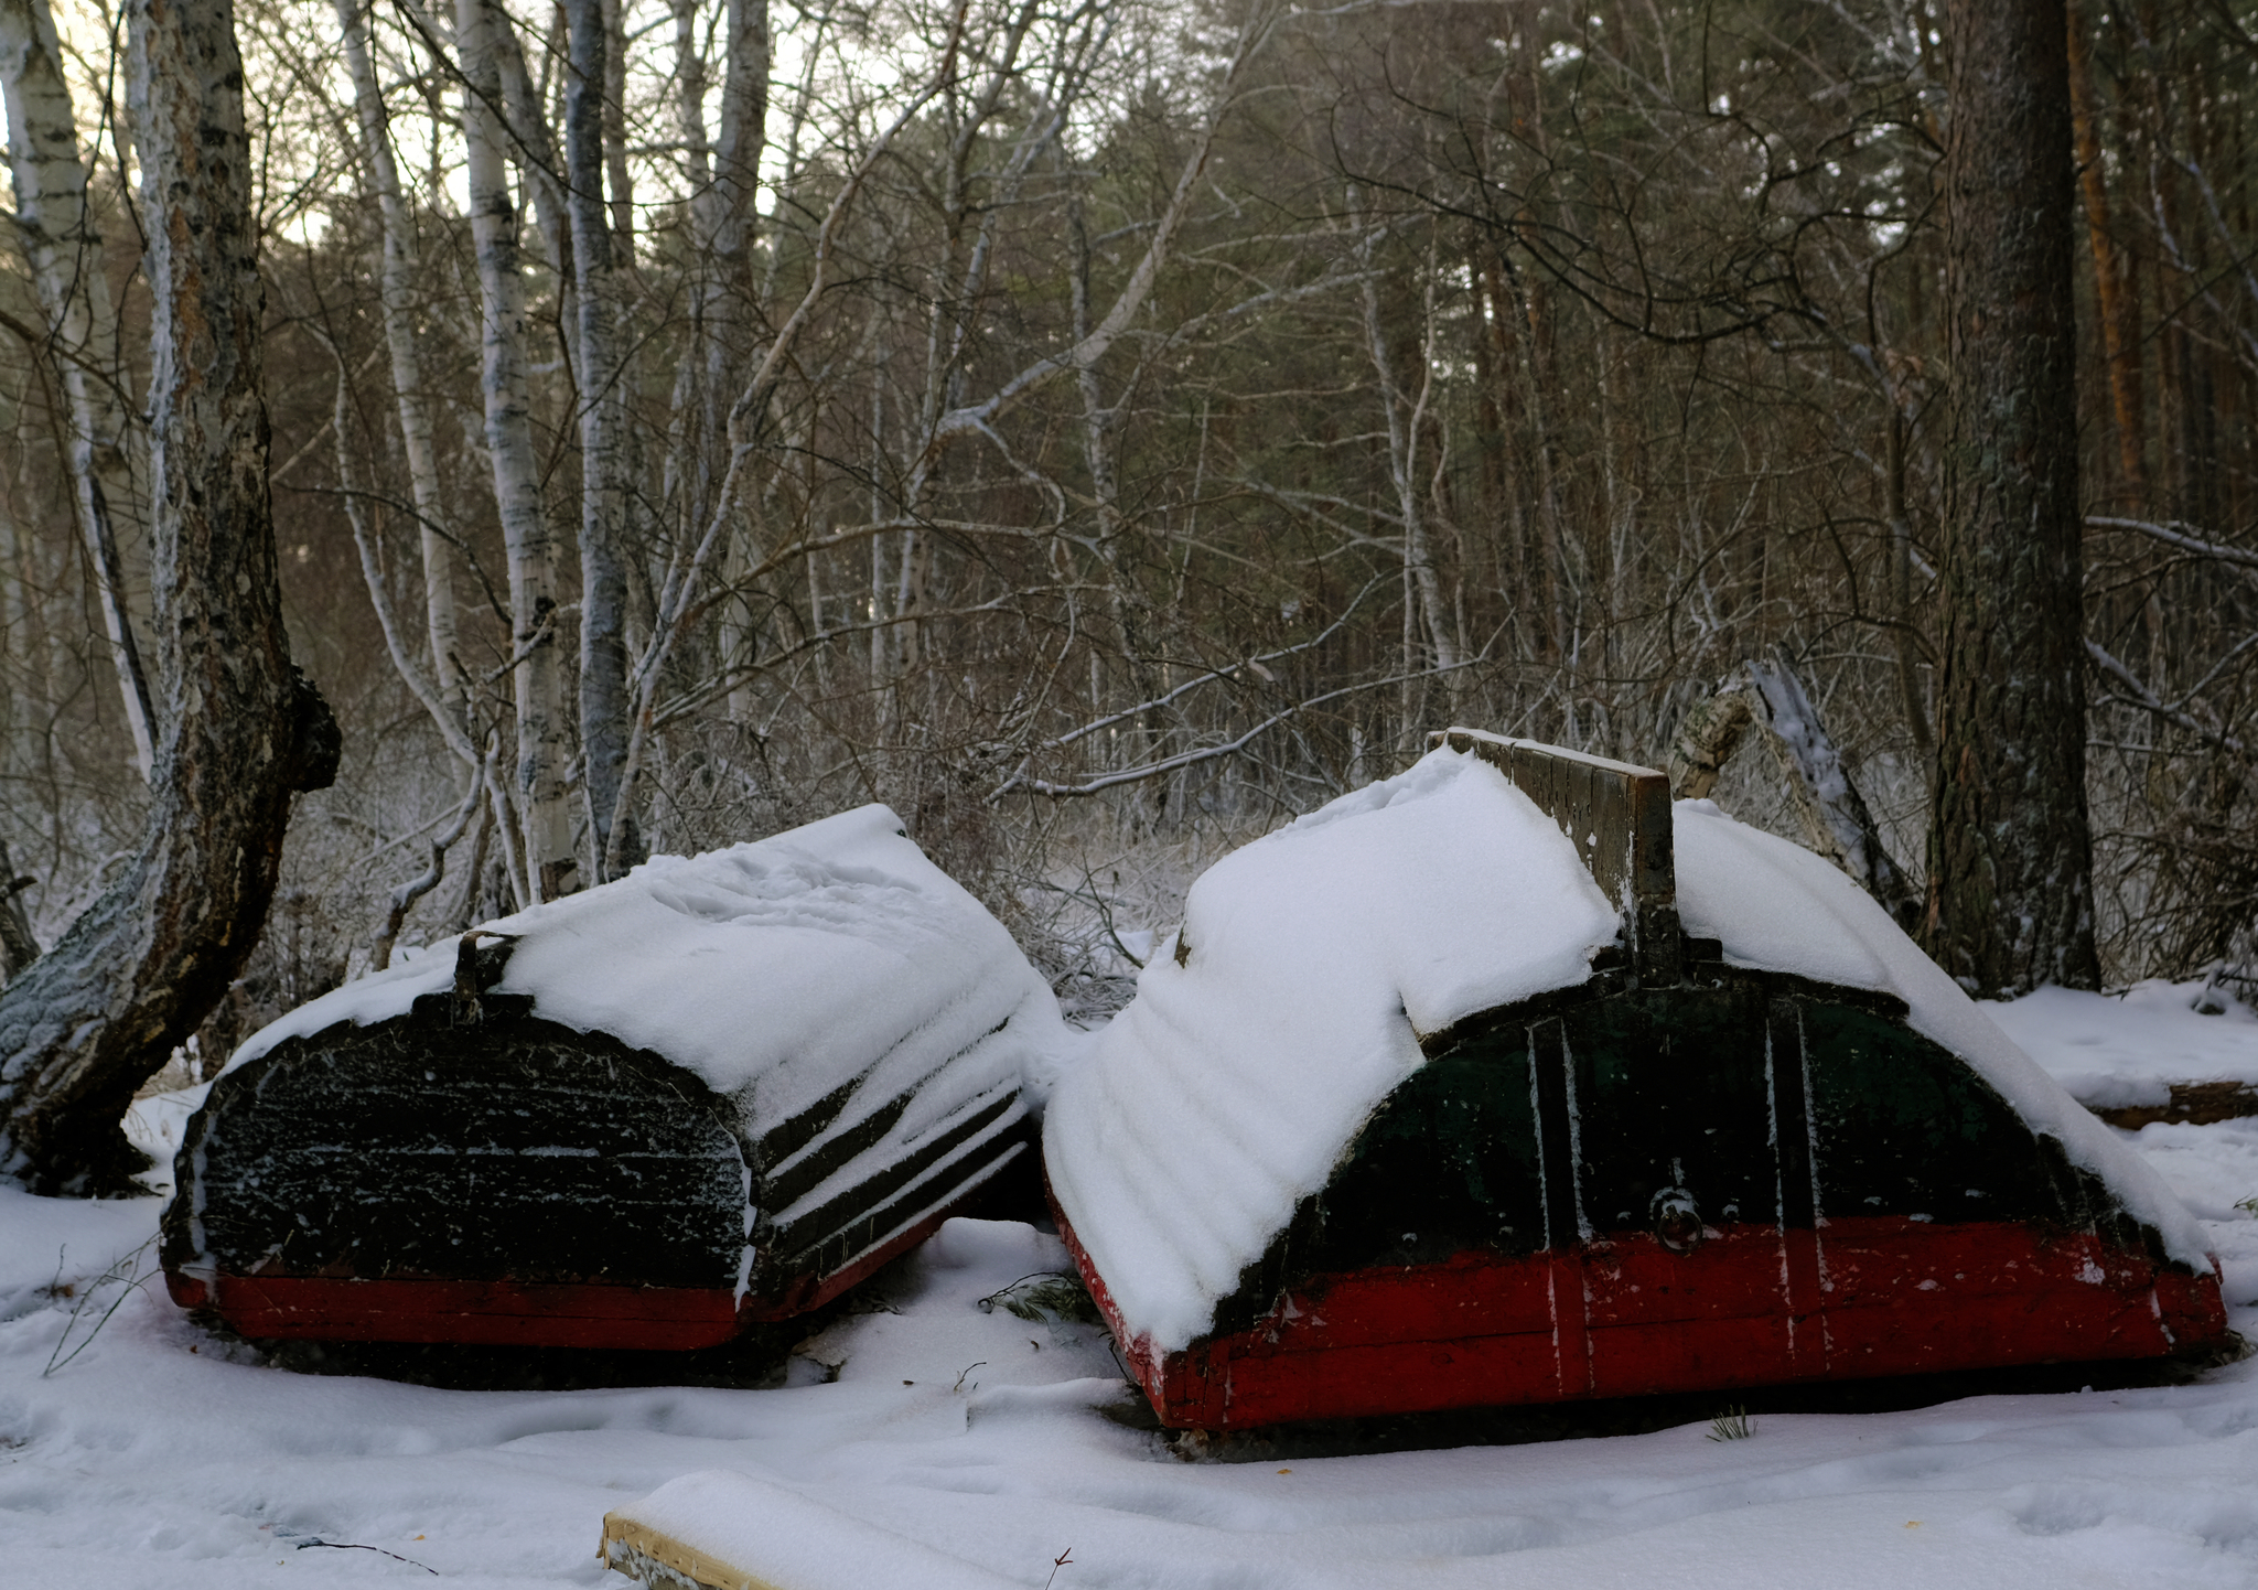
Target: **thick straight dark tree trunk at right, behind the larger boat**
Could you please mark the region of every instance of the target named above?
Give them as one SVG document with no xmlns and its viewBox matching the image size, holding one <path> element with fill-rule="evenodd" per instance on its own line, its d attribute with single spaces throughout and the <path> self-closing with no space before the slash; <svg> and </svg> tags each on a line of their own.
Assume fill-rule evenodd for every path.
<svg viewBox="0 0 2258 1590">
<path fill-rule="evenodd" d="M 1951 449 L 1926 946 L 1983 994 L 2095 987 L 2062 0 L 1958 0 Z"/>
</svg>

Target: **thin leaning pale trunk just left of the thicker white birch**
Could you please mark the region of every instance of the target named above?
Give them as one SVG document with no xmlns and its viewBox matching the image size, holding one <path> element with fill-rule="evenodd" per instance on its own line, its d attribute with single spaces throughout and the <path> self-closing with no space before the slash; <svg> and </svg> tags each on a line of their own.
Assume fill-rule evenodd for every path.
<svg viewBox="0 0 2258 1590">
<path fill-rule="evenodd" d="M 409 458 L 409 490 L 415 495 L 418 547 L 425 576 L 425 644 L 431 648 L 431 680 L 447 711 L 461 705 L 461 666 L 456 664 L 454 619 L 454 547 L 440 533 L 447 508 L 438 490 L 438 454 L 431 447 L 431 404 L 422 382 L 422 355 L 415 348 L 415 228 L 400 196 L 400 167 L 393 160 L 393 136 L 377 90 L 377 72 L 368 59 L 366 0 L 336 0 L 336 25 L 345 45 L 345 68 L 352 72 L 352 102 L 361 124 L 361 156 L 368 160 L 368 185 L 377 194 L 384 221 L 384 341 L 393 359 L 393 395 L 400 409 L 400 443 Z M 339 431 L 339 447 L 345 445 Z M 465 741 L 467 743 L 467 741 Z"/>
</svg>

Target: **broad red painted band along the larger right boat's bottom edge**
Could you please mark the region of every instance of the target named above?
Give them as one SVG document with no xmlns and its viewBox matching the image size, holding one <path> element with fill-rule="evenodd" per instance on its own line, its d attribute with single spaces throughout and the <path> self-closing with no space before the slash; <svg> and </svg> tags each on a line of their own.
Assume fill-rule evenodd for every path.
<svg viewBox="0 0 2258 1590">
<path fill-rule="evenodd" d="M 2226 1335 L 2217 1276 L 2084 1233 L 1865 1217 L 1712 1229 L 1694 1253 L 1628 1233 L 1319 1276 L 1251 1330 L 1161 1353 L 1059 1231 L 1176 1430 L 2159 1357 Z"/>
</svg>

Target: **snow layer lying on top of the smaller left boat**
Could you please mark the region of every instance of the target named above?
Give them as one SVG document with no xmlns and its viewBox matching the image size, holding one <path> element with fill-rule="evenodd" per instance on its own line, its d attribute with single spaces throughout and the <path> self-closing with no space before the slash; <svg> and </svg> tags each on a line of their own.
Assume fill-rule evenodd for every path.
<svg viewBox="0 0 2258 1590">
<path fill-rule="evenodd" d="M 488 926 L 517 937 L 495 991 L 531 994 L 537 1016 L 686 1066 L 738 1095 L 752 1132 L 874 1062 L 912 1082 L 987 1037 L 982 1064 L 1016 1075 L 1048 1066 L 1064 1032 L 1012 935 L 885 806 L 704 856 L 655 856 Z M 228 1064 L 339 1021 L 402 1016 L 452 985 L 454 946 L 440 942 L 300 1005 Z"/>
</svg>

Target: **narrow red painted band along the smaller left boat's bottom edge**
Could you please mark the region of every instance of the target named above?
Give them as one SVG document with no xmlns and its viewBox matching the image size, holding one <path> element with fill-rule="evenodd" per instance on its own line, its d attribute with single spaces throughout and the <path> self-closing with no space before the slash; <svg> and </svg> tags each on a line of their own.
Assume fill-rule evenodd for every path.
<svg viewBox="0 0 2258 1590">
<path fill-rule="evenodd" d="M 939 1231 L 953 1208 L 908 1226 L 829 1276 L 799 1276 L 777 1294 L 725 1287 L 628 1287 L 515 1281 L 361 1281 L 352 1276 L 230 1276 L 217 1287 L 165 1274 L 181 1308 L 215 1308 L 253 1339 L 454 1342 L 461 1346 L 574 1346 L 686 1353 L 720 1346 L 754 1321 L 822 1308 Z"/>
</svg>

